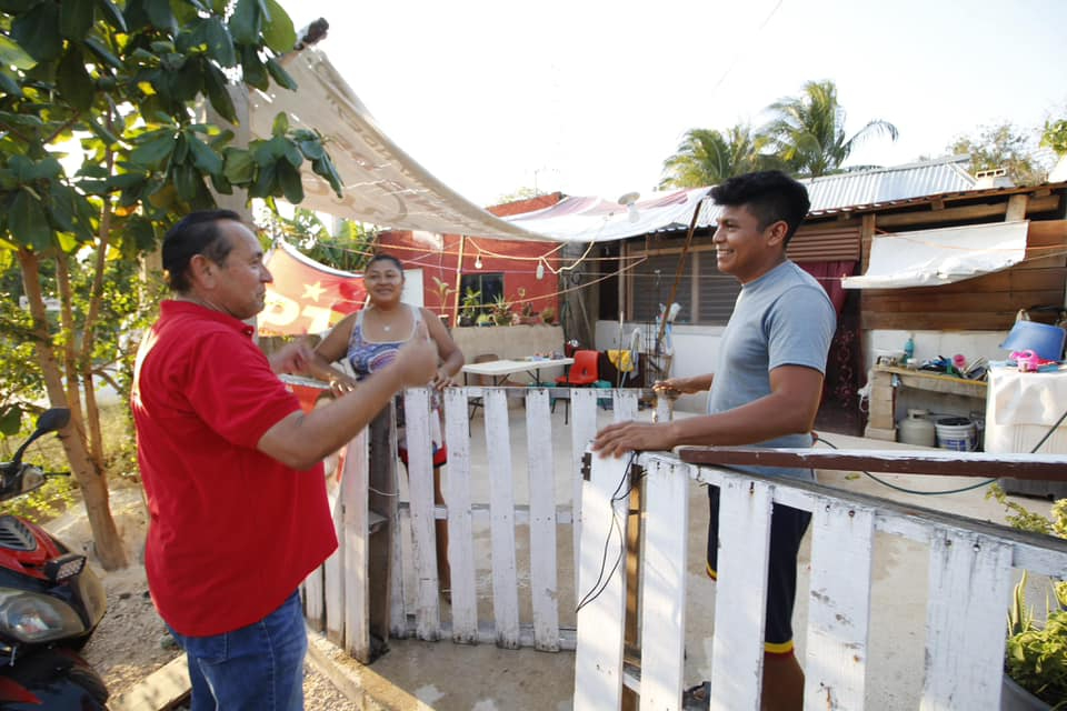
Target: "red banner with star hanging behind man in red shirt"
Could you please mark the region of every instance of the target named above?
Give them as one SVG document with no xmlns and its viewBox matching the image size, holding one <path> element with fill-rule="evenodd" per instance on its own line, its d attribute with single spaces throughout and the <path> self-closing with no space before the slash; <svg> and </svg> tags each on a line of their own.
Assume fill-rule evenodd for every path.
<svg viewBox="0 0 1067 711">
<path fill-rule="evenodd" d="M 259 314 L 260 336 L 321 333 L 363 306 L 361 274 L 332 269 L 305 257 L 285 242 L 267 254 L 273 276 L 267 306 Z"/>
</svg>

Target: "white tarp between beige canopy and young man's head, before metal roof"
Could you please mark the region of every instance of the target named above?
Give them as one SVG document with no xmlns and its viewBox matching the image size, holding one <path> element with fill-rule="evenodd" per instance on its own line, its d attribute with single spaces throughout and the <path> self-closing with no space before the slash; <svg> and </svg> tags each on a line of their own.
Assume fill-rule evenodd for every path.
<svg viewBox="0 0 1067 711">
<path fill-rule="evenodd" d="M 687 228 L 708 188 L 652 193 L 632 207 L 602 198 L 565 198 L 557 204 L 511 216 L 515 226 L 564 242 L 608 242 L 666 229 Z"/>
</svg>

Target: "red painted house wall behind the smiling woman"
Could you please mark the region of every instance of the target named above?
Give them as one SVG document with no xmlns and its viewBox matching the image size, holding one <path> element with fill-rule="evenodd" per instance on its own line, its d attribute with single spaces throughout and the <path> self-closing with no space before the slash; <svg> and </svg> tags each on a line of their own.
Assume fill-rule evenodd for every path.
<svg viewBox="0 0 1067 711">
<path fill-rule="evenodd" d="M 521 214 L 554 206 L 562 198 L 561 193 L 555 192 L 493 206 L 487 210 L 498 217 Z M 459 234 L 427 236 L 410 231 L 382 232 L 378 238 L 379 251 L 398 258 L 406 269 L 422 270 L 422 303 L 435 313 L 446 313 L 449 317 L 455 313 L 457 299 L 462 294 L 453 291 L 449 293 L 447 303 L 442 304 L 440 291 L 433 278 L 440 279 L 455 289 L 461 241 L 463 242 L 461 264 L 463 274 L 477 273 L 475 261 L 480 256 L 482 272 L 503 273 L 505 298 L 515 303 L 516 312 L 519 312 L 522 307 L 519 289 L 525 289 L 525 300 L 532 303 L 536 313 L 552 307 L 556 310 L 557 320 L 559 319 L 559 301 L 556 296 L 559 290 L 559 279 L 556 277 L 556 271 L 559 270 L 561 262 L 558 257 L 562 246 L 560 242 L 498 240 L 486 237 L 463 239 Z M 545 268 L 545 277 L 540 280 L 537 279 L 538 258 L 544 258 L 548 264 Z M 449 323 L 455 326 L 451 318 Z"/>
</svg>

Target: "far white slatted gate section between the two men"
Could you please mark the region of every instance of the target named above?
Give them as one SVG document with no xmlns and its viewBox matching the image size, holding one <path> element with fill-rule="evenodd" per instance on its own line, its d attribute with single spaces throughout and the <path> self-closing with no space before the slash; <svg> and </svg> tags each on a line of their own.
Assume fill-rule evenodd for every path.
<svg viewBox="0 0 1067 711">
<path fill-rule="evenodd" d="M 411 389 L 405 393 L 405 420 L 408 442 L 409 501 L 392 499 L 392 511 L 386 512 L 392 527 L 389 582 L 389 632 L 392 637 L 422 640 L 451 638 L 458 643 L 492 642 L 501 648 L 534 647 L 544 651 L 574 650 L 574 625 L 560 623 L 558 607 L 557 539 L 560 525 L 575 524 L 574 568 L 576 578 L 580 553 L 581 454 L 597 431 L 598 400 L 610 398 L 615 420 L 635 419 L 638 414 L 637 390 L 575 389 L 571 391 L 570 440 L 576 452 L 570 465 L 574 472 L 572 503 L 558 503 L 555 485 L 555 447 L 560 433 L 554 433 L 549 413 L 550 390 L 529 388 L 525 413 L 528 457 L 529 503 L 517 504 L 513 463 L 510 451 L 508 388 L 450 388 L 445 391 L 445 441 L 448 443 L 448 473 L 443 491 L 447 507 L 433 503 L 432 457 L 429 427 L 429 393 Z M 512 393 L 513 397 L 513 393 Z M 489 501 L 471 501 L 470 431 L 468 407 L 471 398 L 481 398 L 485 419 L 486 451 L 489 471 Z M 477 423 L 477 421 L 476 421 Z M 381 448 L 386 452 L 395 449 Z M 373 459 L 373 461 L 372 461 Z M 367 437 L 360 435 L 348 445 L 340 493 L 333 498 L 338 525 L 339 550 L 303 584 L 305 611 L 312 629 L 343 647 L 356 659 L 371 659 L 368 615 L 370 600 L 367 580 L 369 568 L 367 531 L 367 482 L 369 468 L 377 457 L 367 454 Z M 380 463 L 379 463 L 380 465 Z M 400 474 L 403 475 L 403 474 Z M 442 620 L 436 564 L 436 519 L 447 519 L 448 559 L 451 568 L 451 613 Z M 475 522 L 489 522 L 492 571 L 492 619 L 479 619 L 476 591 Z M 401 525 L 401 523 L 407 525 Z M 517 570 L 516 527 L 529 529 L 530 570 L 528 584 L 532 598 L 532 617 L 522 619 L 519 609 L 520 574 Z M 410 531 L 410 545 L 401 534 Z M 360 532 L 363 532 L 360 534 Z M 406 590 L 410 581 L 415 590 Z M 413 599 L 413 603 L 412 603 Z"/>
</svg>

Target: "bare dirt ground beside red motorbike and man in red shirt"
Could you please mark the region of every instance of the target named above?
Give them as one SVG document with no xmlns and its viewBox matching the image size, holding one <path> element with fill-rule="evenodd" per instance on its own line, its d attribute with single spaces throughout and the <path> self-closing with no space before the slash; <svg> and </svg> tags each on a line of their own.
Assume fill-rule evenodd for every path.
<svg viewBox="0 0 1067 711">
<path fill-rule="evenodd" d="M 92 534 L 80 502 L 44 528 L 71 550 L 87 553 L 93 571 L 103 581 L 108 612 L 82 653 L 103 678 L 113 698 L 178 657 L 181 650 L 174 645 L 148 593 L 141 558 L 148 515 L 140 489 L 121 484 L 112 489 L 111 512 L 130 561 L 124 570 L 104 572 L 94 563 Z M 307 668 L 303 693 L 307 709 L 356 709 L 355 703 L 311 667 Z"/>
</svg>

